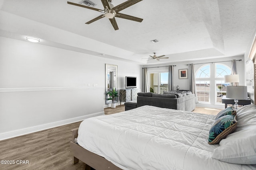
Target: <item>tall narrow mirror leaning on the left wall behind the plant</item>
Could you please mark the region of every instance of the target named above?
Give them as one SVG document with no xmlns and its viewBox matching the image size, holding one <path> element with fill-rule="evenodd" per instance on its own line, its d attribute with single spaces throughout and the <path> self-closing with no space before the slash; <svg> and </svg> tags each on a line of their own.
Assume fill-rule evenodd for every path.
<svg viewBox="0 0 256 170">
<path fill-rule="evenodd" d="M 117 65 L 112 64 L 105 64 L 106 68 L 106 104 L 111 104 L 111 100 L 108 100 L 109 90 L 112 90 L 113 88 L 117 88 Z M 118 102 L 118 98 L 116 98 L 116 102 Z"/>
</svg>

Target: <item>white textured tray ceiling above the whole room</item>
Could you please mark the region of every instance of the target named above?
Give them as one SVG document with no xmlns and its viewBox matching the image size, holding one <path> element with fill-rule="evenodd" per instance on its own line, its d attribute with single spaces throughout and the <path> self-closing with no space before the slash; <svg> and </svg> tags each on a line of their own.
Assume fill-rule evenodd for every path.
<svg viewBox="0 0 256 170">
<path fill-rule="evenodd" d="M 100 0 L 91 1 L 103 9 Z M 230 57 L 248 48 L 255 9 L 256 0 L 142 0 L 121 13 L 144 20 L 116 18 L 115 31 L 107 18 L 85 24 L 101 13 L 64 0 L 0 0 L 0 36 L 34 36 L 43 45 L 139 64 Z M 169 59 L 148 61 L 153 52 Z"/>
</svg>

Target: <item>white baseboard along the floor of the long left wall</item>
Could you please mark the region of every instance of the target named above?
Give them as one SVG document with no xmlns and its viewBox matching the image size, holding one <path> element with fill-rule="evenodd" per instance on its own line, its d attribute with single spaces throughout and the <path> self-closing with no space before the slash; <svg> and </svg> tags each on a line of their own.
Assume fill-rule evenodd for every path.
<svg viewBox="0 0 256 170">
<path fill-rule="evenodd" d="M 10 139 L 13 137 L 18 137 L 21 135 L 26 135 L 28 133 L 38 132 L 38 131 L 50 129 L 53 127 L 58 127 L 58 126 L 62 126 L 62 125 L 66 125 L 66 124 L 70 124 L 70 123 L 74 123 L 74 122 L 78 122 L 78 121 L 83 121 L 84 119 L 87 119 L 89 117 L 95 117 L 95 116 L 99 116 L 99 115 L 104 115 L 104 111 L 98 112 L 98 113 L 92 113 L 90 115 L 84 115 L 84 116 L 74 117 L 74 118 L 65 119 L 65 120 L 61 120 L 61 121 L 55 121 L 55 122 L 46 123 L 46 124 L 42 124 L 42 125 L 37 125 L 37 126 L 27 127 L 27 128 L 23 128 L 23 129 L 17 129 L 14 131 L 0 133 L 0 141 L 2 141 L 4 139 Z"/>
</svg>

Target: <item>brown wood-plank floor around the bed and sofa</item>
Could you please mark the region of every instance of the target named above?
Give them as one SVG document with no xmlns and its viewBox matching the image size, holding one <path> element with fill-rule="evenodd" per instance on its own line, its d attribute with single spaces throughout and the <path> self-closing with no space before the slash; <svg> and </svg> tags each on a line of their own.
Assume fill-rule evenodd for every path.
<svg viewBox="0 0 256 170">
<path fill-rule="evenodd" d="M 217 114 L 221 109 L 196 107 L 194 112 Z M 124 105 L 105 108 L 105 114 L 124 111 Z M 28 160 L 29 164 L 0 164 L 0 170 L 84 170 L 79 161 L 72 164 L 69 142 L 71 129 L 81 122 L 0 141 L 0 160 Z"/>
</svg>

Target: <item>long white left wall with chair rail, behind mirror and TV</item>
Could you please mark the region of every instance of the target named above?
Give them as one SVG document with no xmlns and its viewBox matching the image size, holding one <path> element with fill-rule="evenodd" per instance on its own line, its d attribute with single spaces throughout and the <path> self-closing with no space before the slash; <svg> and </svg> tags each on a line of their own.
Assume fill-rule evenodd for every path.
<svg viewBox="0 0 256 170">
<path fill-rule="evenodd" d="M 104 114 L 105 64 L 118 65 L 119 89 L 127 75 L 141 81 L 133 63 L 5 37 L 0 44 L 0 140 Z"/>
</svg>

